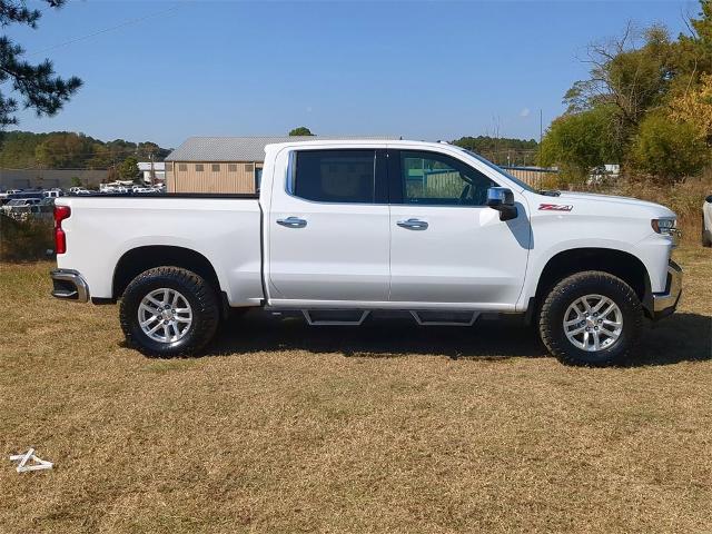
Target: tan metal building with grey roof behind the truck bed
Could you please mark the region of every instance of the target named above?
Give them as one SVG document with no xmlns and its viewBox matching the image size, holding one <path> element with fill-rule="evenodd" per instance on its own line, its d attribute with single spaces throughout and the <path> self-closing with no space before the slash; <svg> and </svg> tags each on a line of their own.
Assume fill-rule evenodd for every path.
<svg viewBox="0 0 712 534">
<path fill-rule="evenodd" d="M 316 139 L 345 137 L 191 137 L 166 157 L 166 187 L 168 192 L 256 192 L 267 145 Z"/>
</svg>

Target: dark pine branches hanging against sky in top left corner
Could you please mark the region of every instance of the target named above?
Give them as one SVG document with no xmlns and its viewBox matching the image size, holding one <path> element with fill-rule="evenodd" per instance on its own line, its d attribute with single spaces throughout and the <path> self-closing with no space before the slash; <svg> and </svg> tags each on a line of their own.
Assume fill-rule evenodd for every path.
<svg viewBox="0 0 712 534">
<path fill-rule="evenodd" d="M 60 8 L 67 0 L 43 0 L 50 8 Z M 28 9 L 22 0 L 0 0 L 0 26 L 12 23 L 37 28 L 41 18 L 39 9 Z M 0 127 L 18 123 L 14 116 L 20 102 L 7 92 L 14 92 L 26 109 L 33 109 L 38 117 L 53 116 L 81 87 L 77 77 L 68 79 L 55 75 L 52 62 L 46 59 L 31 65 L 22 59 L 24 49 L 7 36 L 0 37 Z M 10 86 L 9 91 L 4 85 Z"/>
</svg>

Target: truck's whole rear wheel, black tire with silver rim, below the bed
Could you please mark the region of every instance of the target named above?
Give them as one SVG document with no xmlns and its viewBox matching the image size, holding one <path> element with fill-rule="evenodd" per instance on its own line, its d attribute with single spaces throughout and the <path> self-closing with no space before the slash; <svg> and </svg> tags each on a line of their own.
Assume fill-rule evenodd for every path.
<svg viewBox="0 0 712 534">
<path fill-rule="evenodd" d="M 141 273 L 121 300 L 123 335 L 130 346 L 149 356 L 198 353 L 215 336 L 219 318 L 214 288 L 178 267 Z"/>
</svg>

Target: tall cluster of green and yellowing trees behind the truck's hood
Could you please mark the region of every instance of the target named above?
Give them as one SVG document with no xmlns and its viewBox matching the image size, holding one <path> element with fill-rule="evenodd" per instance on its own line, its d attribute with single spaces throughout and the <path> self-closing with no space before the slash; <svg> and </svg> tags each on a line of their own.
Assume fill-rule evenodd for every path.
<svg viewBox="0 0 712 534">
<path fill-rule="evenodd" d="M 589 48 L 590 77 L 564 96 L 567 110 L 542 141 L 540 162 L 566 181 L 621 164 L 630 176 L 661 184 L 712 164 L 712 1 L 702 0 L 690 34 L 662 26 Z"/>
</svg>

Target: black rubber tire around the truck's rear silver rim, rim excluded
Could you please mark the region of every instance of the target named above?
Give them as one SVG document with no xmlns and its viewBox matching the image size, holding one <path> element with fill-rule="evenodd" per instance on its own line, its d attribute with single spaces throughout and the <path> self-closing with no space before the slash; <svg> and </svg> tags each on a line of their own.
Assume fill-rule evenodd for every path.
<svg viewBox="0 0 712 534">
<path fill-rule="evenodd" d="M 138 309 L 144 297 L 159 288 L 179 291 L 190 305 L 192 322 L 182 337 L 162 343 L 144 333 Z M 120 308 L 121 329 L 129 346 L 147 356 L 188 356 L 210 343 L 220 320 L 215 288 L 195 273 L 178 267 L 156 267 L 138 275 L 123 291 Z"/>
</svg>

